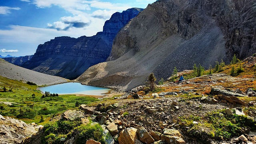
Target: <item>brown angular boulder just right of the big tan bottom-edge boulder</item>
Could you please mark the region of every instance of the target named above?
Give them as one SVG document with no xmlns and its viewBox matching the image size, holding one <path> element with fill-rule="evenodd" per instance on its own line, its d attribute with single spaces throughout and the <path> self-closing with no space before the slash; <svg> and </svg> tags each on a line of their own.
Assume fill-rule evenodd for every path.
<svg viewBox="0 0 256 144">
<path fill-rule="evenodd" d="M 137 134 L 140 141 L 145 144 L 152 144 L 155 141 L 144 127 L 138 128 Z"/>
</svg>

